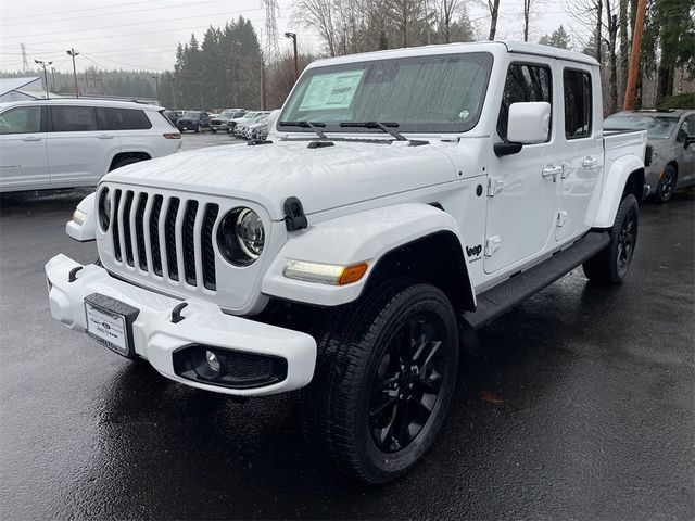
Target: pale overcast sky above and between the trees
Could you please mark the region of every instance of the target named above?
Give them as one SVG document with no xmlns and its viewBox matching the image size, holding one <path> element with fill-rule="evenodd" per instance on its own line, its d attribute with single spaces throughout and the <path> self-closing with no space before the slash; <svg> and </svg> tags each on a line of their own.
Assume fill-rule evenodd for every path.
<svg viewBox="0 0 695 521">
<path fill-rule="evenodd" d="M 572 36 L 581 34 L 582 27 L 565 13 L 566 1 L 572 0 L 534 2 L 531 41 L 559 24 Z M 279 34 L 296 31 L 303 49 L 319 51 L 320 38 L 293 17 L 292 0 L 278 3 Z M 477 0 L 466 3 L 481 36 L 486 36 L 486 8 Z M 522 39 L 522 0 L 501 0 L 497 39 Z M 80 53 L 78 71 L 94 65 L 102 69 L 164 72 L 174 66 L 178 42 L 188 41 L 191 33 L 202 36 L 210 25 L 220 26 L 239 15 L 250 18 L 265 38 L 261 0 L 29 0 L 26 4 L 0 0 L 0 71 L 22 71 L 24 43 L 31 66 L 34 60 L 52 61 L 58 71 L 70 72 L 72 62 L 66 50 L 74 47 Z M 289 45 L 280 36 L 280 49 Z"/>
</svg>

